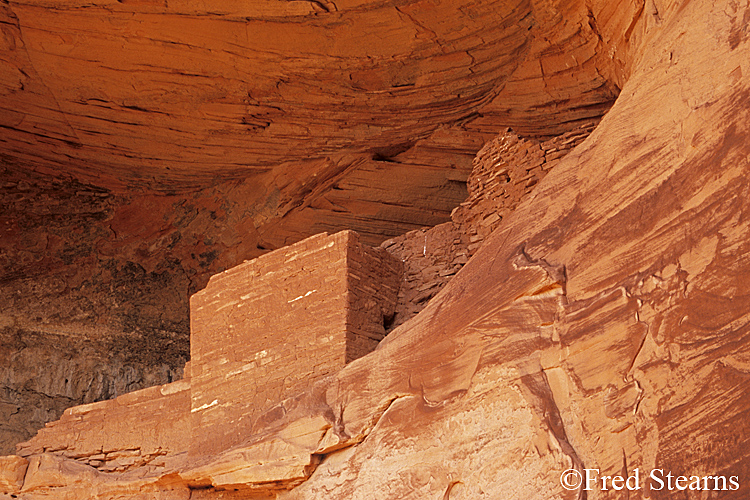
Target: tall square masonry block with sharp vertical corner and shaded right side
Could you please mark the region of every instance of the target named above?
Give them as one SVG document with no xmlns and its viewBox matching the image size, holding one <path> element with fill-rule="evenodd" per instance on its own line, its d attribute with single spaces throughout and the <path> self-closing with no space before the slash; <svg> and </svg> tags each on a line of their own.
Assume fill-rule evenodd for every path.
<svg viewBox="0 0 750 500">
<path fill-rule="evenodd" d="M 402 273 L 342 231 L 213 276 L 190 301 L 191 453 L 238 443 L 260 412 L 375 349 Z"/>
</svg>

